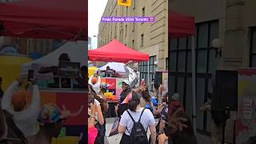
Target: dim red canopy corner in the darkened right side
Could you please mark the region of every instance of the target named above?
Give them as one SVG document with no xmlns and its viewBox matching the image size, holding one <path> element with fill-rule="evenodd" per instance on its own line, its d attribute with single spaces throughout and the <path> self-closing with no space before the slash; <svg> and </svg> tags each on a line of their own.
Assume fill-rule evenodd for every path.
<svg viewBox="0 0 256 144">
<path fill-rule="evenodd" d="M 182 38 L 194 34 L 193 17 L 170 11 L 168 24 L 170 38 Z"/>
</svg>

